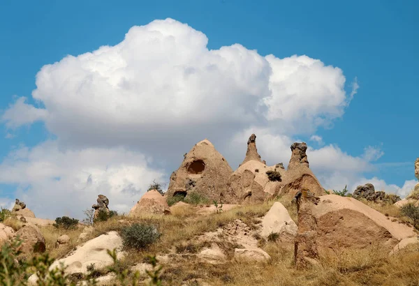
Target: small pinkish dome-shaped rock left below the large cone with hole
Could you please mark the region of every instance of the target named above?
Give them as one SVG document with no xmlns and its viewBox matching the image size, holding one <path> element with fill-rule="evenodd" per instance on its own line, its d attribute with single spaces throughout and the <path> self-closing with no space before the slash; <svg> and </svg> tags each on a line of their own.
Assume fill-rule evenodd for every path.
<svg viewBox="0 0 419 286">
<path fill-rule="evenodd" d="M 138 217 L 144 214 L 170 214 L 170 208 L 166 199 L 157 190 L 149 190 L 145 193 L 128 216 Z"/>
</svg>

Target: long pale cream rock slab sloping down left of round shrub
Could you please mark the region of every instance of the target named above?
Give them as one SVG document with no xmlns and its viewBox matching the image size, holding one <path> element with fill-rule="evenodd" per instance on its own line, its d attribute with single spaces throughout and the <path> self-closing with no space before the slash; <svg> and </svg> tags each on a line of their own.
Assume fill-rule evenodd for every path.
<svg viewBox="0 0 419 286">
<path fill-rule="evenodd" d="M 103 269 L 105 266 L 111 265 L 112 258 L 108 255 L 107 250 L 122 247 L 122 239 L 117 232 L 108 232 L 87 241 L 82 246 L 78 246 L 76 250 L 62 259 L 58 259 L 52 263 L 50 270 L 60 266 L 61 262 L 66 267 L 66 273 L 87 273 L 87 266 L 94 264 L 96 269 Z M 123 253 L 118 252 L 118 257 L 122 257 Z M 36 285 L 38 278 L 32 275 L 29 278 L 31 285 Z"/>
</svg>

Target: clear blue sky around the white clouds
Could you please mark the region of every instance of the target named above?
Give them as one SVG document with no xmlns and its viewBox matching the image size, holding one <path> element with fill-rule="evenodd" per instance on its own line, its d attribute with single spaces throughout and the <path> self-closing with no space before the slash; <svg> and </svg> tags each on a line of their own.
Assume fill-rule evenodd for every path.
<svg viewBox="0 0 419 286">
<path fill-rule="evenodd" d="M 170 17 L 205 33 L 210 50 L 240 43 L 263 57 L 274 54 L 283 59 L 294 54 L 307 55 L 325 66 L 339 67 L 346 78 L 346 96 L 351 93 L 351 82 L 357 78 L 358 93 L 341 116 L 330 120 L 328 127 L 286 135 L 309 142 L 311 135 L 316 134 L 322 137 L 322 146 L 333 144 L 354 158 L 361 157 L 372 146 L 381 156 L 376 156 L 369 168 L 360 170 L 356 179 L 345 181 L 342 177 L 341 184 L 351 185 L 358 179 L 374 177 L 385 181 L 385 186 L 395 184 L 401 188 L 405 181 L 414 179 L 413 162 L 419 156 L 416 144 L 419 97 L 415 88 L 419 82 L 419 20 L 415 18 L 418 8 L 417 1 L 403 4 L 396 1 L 1 1 L 0 110 L 5 112 L 21 96 L 27 97 L 27 104 L 44 108 L 45 100 L 31 97 L 37 88 L 36 74 L 44 65 L 61 61 L 68 54 L 76 57 L 103 45 L 117 45 L 131 27 Z M 59 89 L 55 92 L 59 93 Z M 16 176 L 20 165 L 5 163 L 10 152 L 22 146 L 39 146 L 47 140 L 54 142 L 57 137 L 61 138 L 59 151 L 99 145 L 135 149 L 127 142 L 96 144 L 93 139 L 67 146 L 63 143 L 64 133 L 55 132 L 57 126 L 46 127 L 42 120 L 11 129 L 6 127 L 6 121 L 1 124 L 1 170 L 13 166 Z M 8 134 L 7 137 L 13 135 L 13 138 L 6 138 Z M 200 136 L 200 133 L 196 137 L 190 135 L 185 143 L 189 145 L 179 148 L 188 151 L 193 142 L 203 139 Z M 161 136 L 156 140 L 164 139 Z M 214 141 L 221 142 L 221 138 Z M 310 144 L 321 148 L 315 142 Z M 228 152 L 227 147 L 221 149 Z M 155 150 L 144 150 L 135 149 L 145 154 L 147 162 L 156 163 L 152 168 L 163 170 L 162 178 L 168 181 L 167 174 L 179 165 L 179 160 L 161 160 Z M 228 153 L 225 155 L 229 158 Z M 230 156 L 235 162 L 234 155 Z M 24 157 L 24 161 L 30 160 L 31 156 Z M 311 166 L 316 171 L 314 163 Z M 322 177 L 328 176 L 324 172 Z M 24 197 L 27 188 L 50 186 L 39 178 L 33 180 L 1 181 L 0 178 L 0 197 Z"/>
</svg>

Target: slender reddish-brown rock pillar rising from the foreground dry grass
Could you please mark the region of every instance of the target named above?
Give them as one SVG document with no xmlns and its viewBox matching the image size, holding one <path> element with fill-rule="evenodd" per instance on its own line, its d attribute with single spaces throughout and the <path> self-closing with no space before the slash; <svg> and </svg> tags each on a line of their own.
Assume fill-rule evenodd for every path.
<svg viewBox="0 0 419 286">
<path fill-rule="evenodd" d="M 313 209 L 319 200 L 309 190 L 301 190 L 295 195 L 298 230 L 294 243 L 294 259 L 297 269 L 304 269 L 316 264 L 318 259 L 317 221 Z"/>
</svg>

